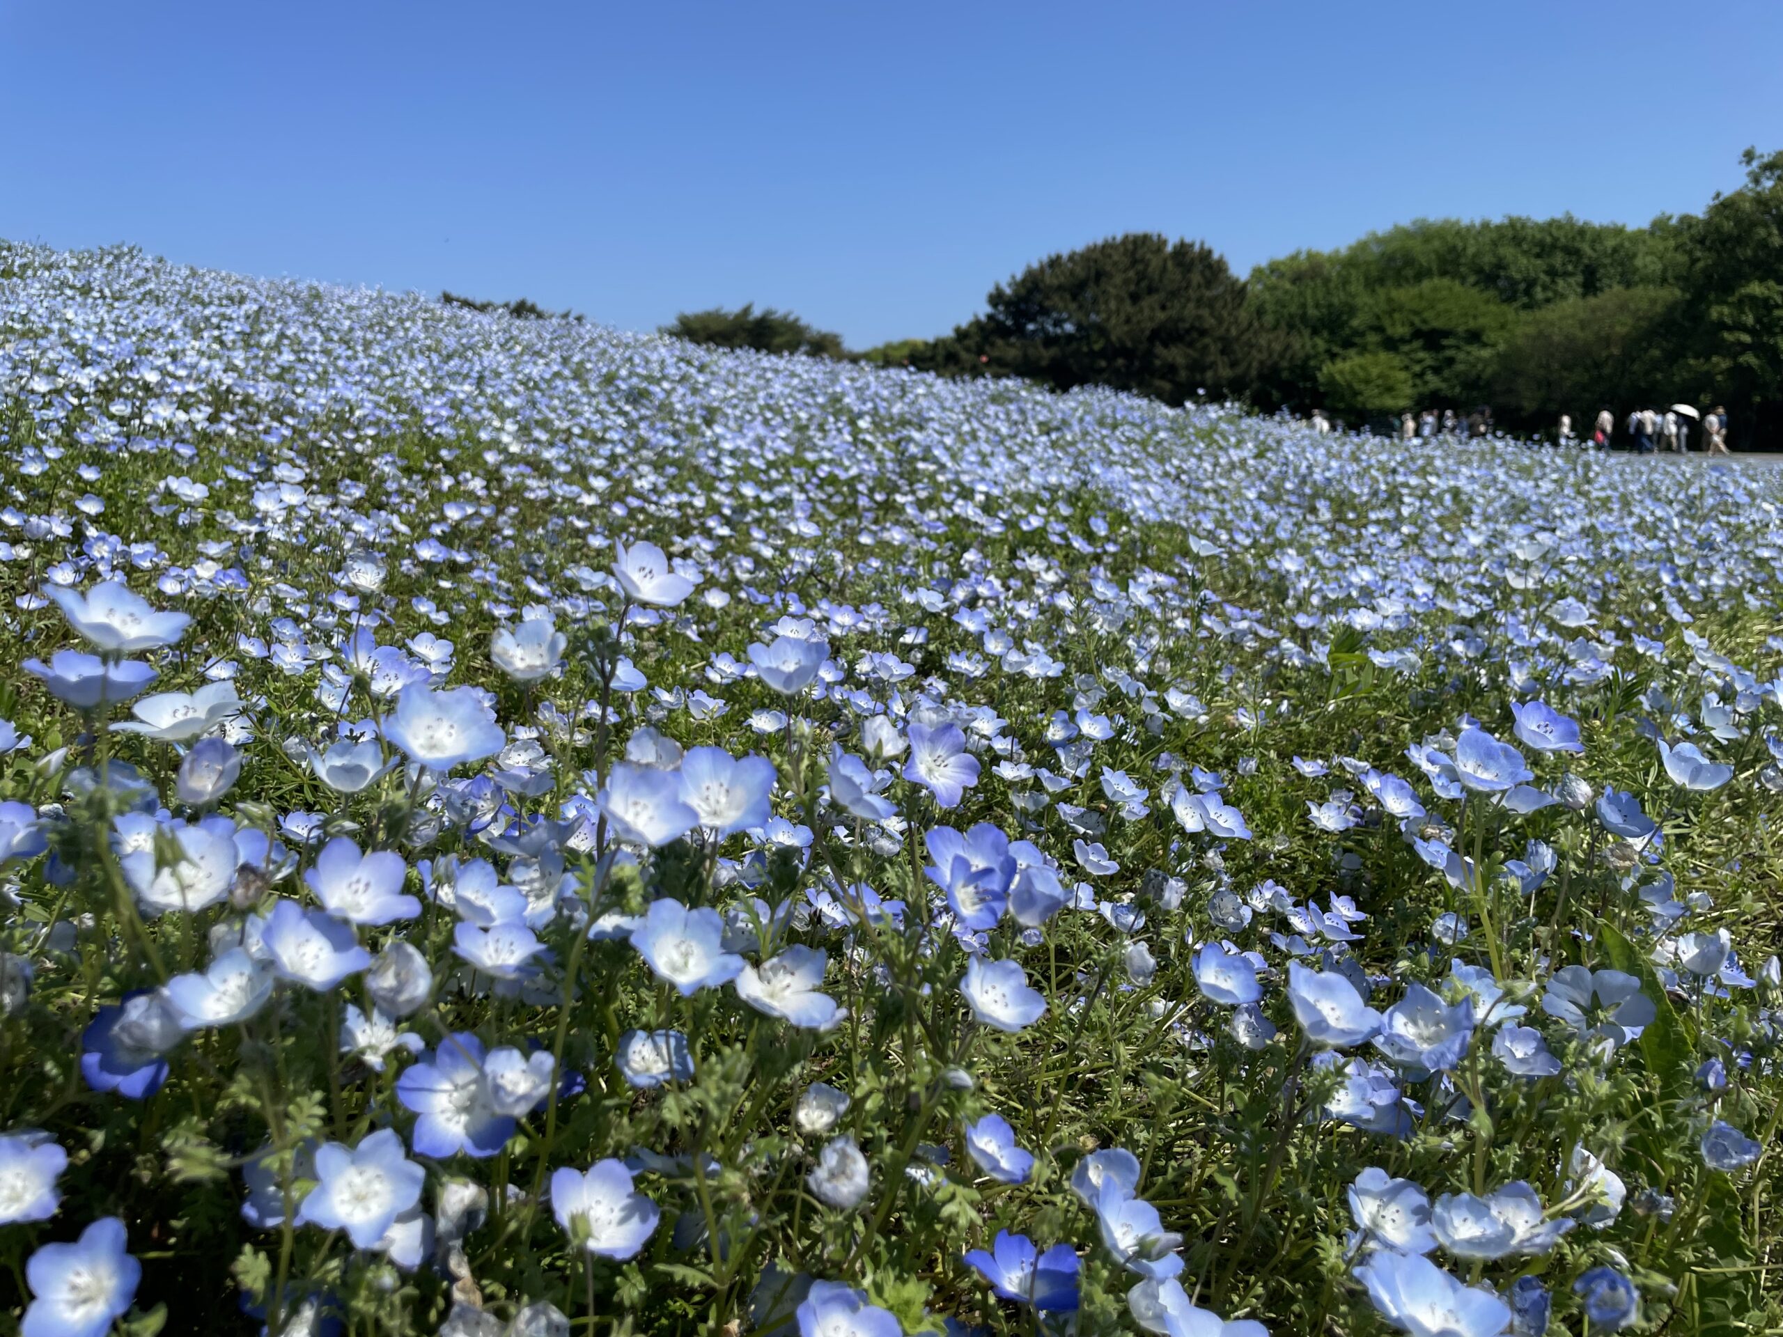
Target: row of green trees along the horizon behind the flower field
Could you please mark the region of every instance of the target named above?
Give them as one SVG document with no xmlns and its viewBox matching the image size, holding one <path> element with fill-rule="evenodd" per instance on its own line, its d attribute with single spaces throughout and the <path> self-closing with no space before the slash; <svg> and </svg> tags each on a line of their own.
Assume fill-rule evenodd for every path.
<svg viewBox="0 0 1783 1337">
<path fill-rule="evenodd" d="M 697 312 L 670 333 L 947 374 L 1098 383 L 1168 403 L 1380 421 L 1491 405 L 1500 424 L 1576 424 L 1674 399 L 1726 405 L 1738 444 L 1783 446 L 1783 153 L 1646 228 L 1576 217 L 1419 221 L 1237 278 L 1198 242 L 1129 234 L 1048 255 L 950 335 L 845 355 L 783 312 Z"/>
</svg>

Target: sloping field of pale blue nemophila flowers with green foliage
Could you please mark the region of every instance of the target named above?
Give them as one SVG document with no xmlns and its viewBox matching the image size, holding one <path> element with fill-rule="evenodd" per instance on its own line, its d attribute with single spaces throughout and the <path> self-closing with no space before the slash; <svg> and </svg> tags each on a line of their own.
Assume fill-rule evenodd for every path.
<svg viewBox="0 0 1783 1337">
<path fill-rule="evenodd" d="M 0 1330 L 1783 1332 L 1783 478 L 0 244 Z"/>
</svg>

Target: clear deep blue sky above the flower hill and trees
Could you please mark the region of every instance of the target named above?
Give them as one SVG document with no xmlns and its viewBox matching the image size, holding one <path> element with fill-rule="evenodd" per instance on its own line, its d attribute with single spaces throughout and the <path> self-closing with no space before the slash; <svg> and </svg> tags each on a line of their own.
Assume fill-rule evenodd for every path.
<svg viewBox="0 0 1783 1337">
<path fill-rule="evenodd" d="M 0 237 L 867 346 L 1136 228 L 1696 210 L 1779 52 L 1774 0 L 0 0 Z"/>
</svg>

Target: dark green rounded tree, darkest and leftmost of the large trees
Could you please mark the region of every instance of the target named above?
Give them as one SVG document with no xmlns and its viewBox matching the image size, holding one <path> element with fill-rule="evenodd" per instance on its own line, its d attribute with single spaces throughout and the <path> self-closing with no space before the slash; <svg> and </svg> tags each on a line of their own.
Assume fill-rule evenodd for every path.
<svg viewBox="0 0 1783 1337">
<path fill-rule="evenodd" d="M 1245 392 L 1271 344 L 1220 255 L 1155 234 L 1048 255 L 991 289 L 986 305 L 924 360 L 1180 405 L 1204 390 Z"/>
</svg>

